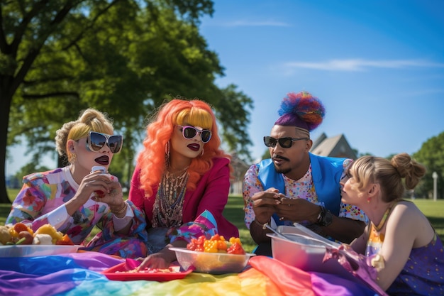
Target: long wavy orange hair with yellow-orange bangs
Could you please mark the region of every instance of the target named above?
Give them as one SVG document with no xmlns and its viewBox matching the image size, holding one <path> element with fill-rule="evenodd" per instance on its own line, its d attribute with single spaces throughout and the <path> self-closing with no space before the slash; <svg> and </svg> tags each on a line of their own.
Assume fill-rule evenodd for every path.
<svg viewBox="0 0 444 296">
<path fill-rule="evenodd" d="M 165 171 L 165 145 L 170 141 L 174 127 L 184 125 L 185 120 L 189 125 L 209 129 L 212 133 L 211 140 L 204 146 L 204 154 L 194 158 L 189 165 L 187 190 L 196 188 L 201 175 L 212 167 L 212 158 L 231 159 L 230 155 L 219 148 L 221 139 L 211 106 L 199 99 L 172 99 L 160 106 L 154 119 L 148 124 L 143 141 L 144 148 L 138 155 L 140 188 L 145 190 L 145 197 L 151 197 L 152 187 L 159 185 Z M 231 166 L 230 170 L 233 171 Z"/>
</svg>

